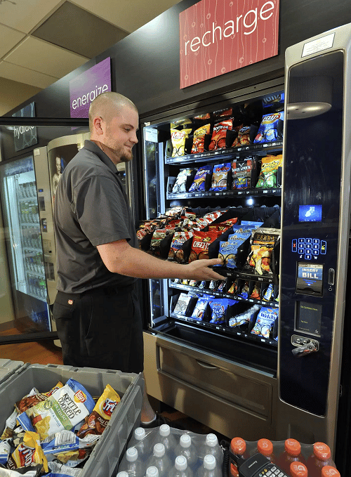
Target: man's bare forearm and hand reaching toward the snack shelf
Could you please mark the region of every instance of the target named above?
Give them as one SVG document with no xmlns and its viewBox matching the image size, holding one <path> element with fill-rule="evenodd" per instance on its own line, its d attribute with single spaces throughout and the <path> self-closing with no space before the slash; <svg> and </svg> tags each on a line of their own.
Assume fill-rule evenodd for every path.
<svg viewBox="0 0 351 477">
<path fill-rule="evenodd" d="M 211 265 L 220 259 L 195 260 L 187 265 L 164 261 L 131 247 L 126 240 L 117 240 L 97 247 L 105 266 L 113 273 L 135 278 L 180 278 L 183 280 L 224 280 Z"/>
</svg>

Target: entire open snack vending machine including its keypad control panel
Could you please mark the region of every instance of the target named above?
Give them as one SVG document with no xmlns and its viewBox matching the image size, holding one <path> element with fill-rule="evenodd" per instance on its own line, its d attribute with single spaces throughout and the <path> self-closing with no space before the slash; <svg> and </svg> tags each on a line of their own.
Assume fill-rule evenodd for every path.
<svg viewBox="0 0 351 477">
<path fill-rule="evenodd" d="M 340 466 L 350 443 L 350 39 L 345 25 L 288 48 L 285 84 L 145 118 L 138 230 L 161 259 L 220 256 L 226 278 L 149 281 L 148 393 L 225 436 L 326 442 Z"/>
</svg>

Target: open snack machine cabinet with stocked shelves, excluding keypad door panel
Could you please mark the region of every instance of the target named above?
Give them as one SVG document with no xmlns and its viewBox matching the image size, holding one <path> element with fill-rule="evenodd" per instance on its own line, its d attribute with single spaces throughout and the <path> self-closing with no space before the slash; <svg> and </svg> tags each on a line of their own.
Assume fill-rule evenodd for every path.
<svg viewBox="0 0 351 477">
<path fill-rule="evenodd" d="M 284 79 L 143 124 L 140 248 L 223 280 L 149 280 L 147 392 L 225 436 L 273 438 Z M 241 434 L 240 434 L 241 433 Z"/>
</svg>

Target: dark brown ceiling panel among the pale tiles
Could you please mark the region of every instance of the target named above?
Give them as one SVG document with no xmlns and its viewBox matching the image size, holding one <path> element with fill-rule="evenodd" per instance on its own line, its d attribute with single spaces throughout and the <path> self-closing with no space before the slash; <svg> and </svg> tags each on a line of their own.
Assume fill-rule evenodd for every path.
<svg viewBox="0 0 351 477">
<path fill-rule="evenodd" d="M 62 25 L 65 25 L 65 29 L 62 29 Z M 127 34 L 128 32 L 69 1 L 65 1 L 53 15 L 32 32 L 34 37 L 74 51 L 86 58 L 97 56 Z"/>
</svg>

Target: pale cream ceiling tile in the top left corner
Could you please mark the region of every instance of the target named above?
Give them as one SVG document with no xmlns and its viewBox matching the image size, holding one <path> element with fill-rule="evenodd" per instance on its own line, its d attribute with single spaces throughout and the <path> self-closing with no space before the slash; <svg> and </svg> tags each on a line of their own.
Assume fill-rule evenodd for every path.
<svg viewBox="0 0 351 477">
<path fill-rule="evenodd" d="M 3 25 L 29 33 L 62 0 L 14 0 L 0 4 L 0 18 Z"/>
</svg>

